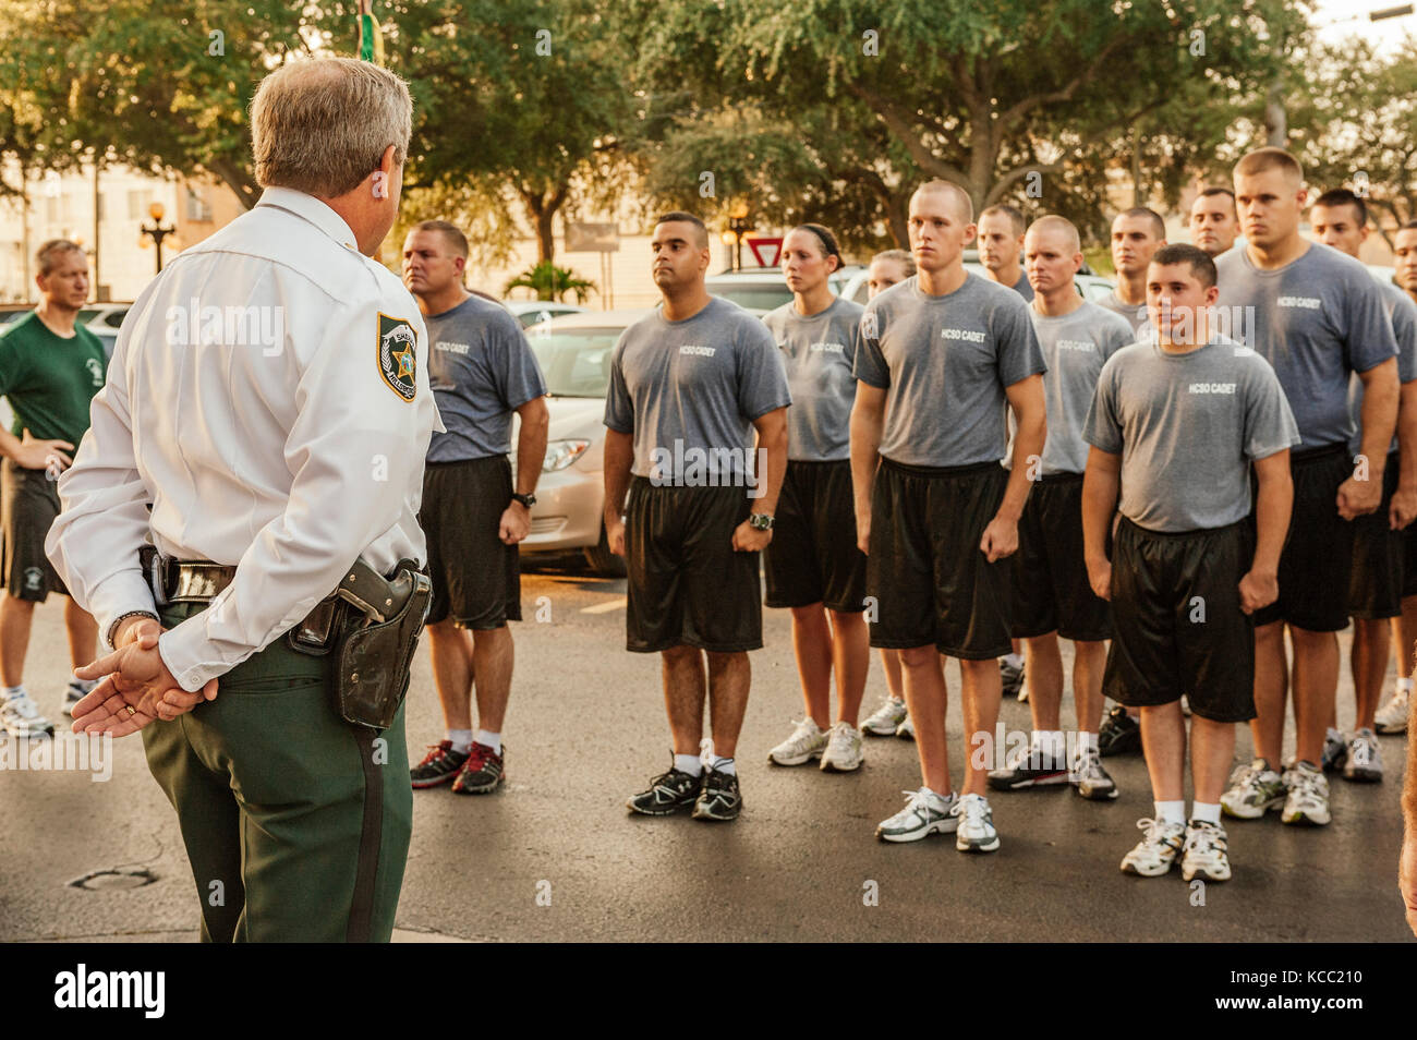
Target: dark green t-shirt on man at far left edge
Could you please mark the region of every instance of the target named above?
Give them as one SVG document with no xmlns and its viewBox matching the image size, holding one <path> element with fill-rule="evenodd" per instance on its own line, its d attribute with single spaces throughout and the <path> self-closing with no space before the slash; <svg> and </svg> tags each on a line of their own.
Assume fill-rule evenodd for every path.
<svg viewBox="0 0 1417 1040">
<path fill-rule="evenodd" d="M 10 432 L 78 448 L 89 422 L 89 401 L 103 388 L 103 343 L 82 326 L 55 336 L 30 312 L 0 336 L 0 397 L 14 411 Z"/>
</svg>

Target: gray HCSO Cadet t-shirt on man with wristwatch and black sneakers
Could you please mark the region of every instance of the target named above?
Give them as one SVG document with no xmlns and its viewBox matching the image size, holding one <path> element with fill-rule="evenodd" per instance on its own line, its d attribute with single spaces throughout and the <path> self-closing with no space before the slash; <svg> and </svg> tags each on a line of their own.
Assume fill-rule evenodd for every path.
<svg viewBox="0 0 1417 1040">
<path fill-rule="evenodd" d="M 660 310 L 621 333 L 611 361 L 605 425 L 635 436 L 636 476 L 656 483 L 744 485 L 752 421 L 792 402 L 772 333 L 714 296 L 693 317 Z"/>
</svg>

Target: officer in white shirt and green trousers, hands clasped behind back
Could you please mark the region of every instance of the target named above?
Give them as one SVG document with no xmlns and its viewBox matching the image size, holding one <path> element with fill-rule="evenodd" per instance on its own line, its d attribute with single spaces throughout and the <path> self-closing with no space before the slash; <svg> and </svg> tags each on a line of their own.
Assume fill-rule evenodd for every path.
<svg viewBox="0 0 1417 1040">
<path fill-rule="evenodd" d="M 74 728 L 142 730 L 207 941 L 394 925 L 417 514 L 441 424 L 418 305 L 370 255 L 411 112 L 398 77 L 354 60 L 262 81 L 265 193 L 133 305 L 60 483 L 50 560 L 116 648 L 86 669 L 106 677 Z"/>
</svg>

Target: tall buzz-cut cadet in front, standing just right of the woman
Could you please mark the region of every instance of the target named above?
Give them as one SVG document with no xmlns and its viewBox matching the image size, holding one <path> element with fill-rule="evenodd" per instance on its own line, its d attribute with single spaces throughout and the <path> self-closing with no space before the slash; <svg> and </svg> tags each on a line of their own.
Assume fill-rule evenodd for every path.
<svg viewBox="0 0 1417 1040">
<path fill-rule="evenodd" d="M 971 757 L 962 796 L 949 781 L 939 655 L 959 659 L 965 733 L 993 734 L 998 659 L 1010 649 L 1006 557 L 1019 544 L 1027 459 L 1043 452 L 1044 364 L 1023 298 L 965 271 L 969 196 L 924 184 L 908 228 L 918 272 L 866 305 L 852 411 L 856 531 L 879 609 L 871 645 L 901 652 L 922 778 L 876 833 L 954 833 L 961 852 L 993 852 L 988 765 Z M 999 465 L 1007 409 L 1019 426 L 1012 475 Z"/>
</svg>

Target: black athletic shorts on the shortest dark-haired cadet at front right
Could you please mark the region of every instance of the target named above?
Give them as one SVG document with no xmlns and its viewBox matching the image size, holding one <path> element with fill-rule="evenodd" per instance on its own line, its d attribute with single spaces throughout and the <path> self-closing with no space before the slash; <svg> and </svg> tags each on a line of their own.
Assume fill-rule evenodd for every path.
<svg viewBox="0 0 1417 1040">
<path fill-rule="evenodd" d="M 1202 718 L 1254 718 L 1254 622 L 1240 609 L 1240 578 L 1253 558 L 1244 521 L 1163 534 L 1122 517 L 1102 693 L 1128 707 L 1186 694 Z"/>
</svg>

